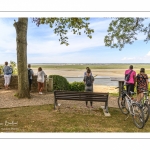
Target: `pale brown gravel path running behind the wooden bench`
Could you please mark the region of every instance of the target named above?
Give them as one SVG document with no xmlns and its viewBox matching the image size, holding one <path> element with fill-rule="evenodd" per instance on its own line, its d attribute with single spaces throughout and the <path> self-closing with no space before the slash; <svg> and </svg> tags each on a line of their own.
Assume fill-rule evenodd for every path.
<svg viewBox="0 0 150 150">
<path fill-rule="evenodd" d="M 54 94 L 46 93 L 39 95 L 38 93 L 31 93 L 31 99 L 18 99 L 14 96 L 15 90 L 4 90 L 0 89 L 0 108 L 11 108 L 11 107 L 22 107 L 22 106 L 33 106 L 33 105 L 45 105 L 54 103 Z M 78 101 L 61 101 L 61 107 L 85 107 L 85 102 Z M 94 108 L 99 108 L 104 103 L 93 103 Z M 109 97 L 109 107 L 117 106 L 117 97 Z"/>
</svg>

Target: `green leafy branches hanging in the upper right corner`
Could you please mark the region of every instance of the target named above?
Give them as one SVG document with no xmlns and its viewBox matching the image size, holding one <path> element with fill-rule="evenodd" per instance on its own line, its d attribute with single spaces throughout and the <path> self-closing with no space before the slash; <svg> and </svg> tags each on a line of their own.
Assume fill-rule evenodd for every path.
<svg viewBox="0 0 150 150">
<path fill-rule="evenodd" d="M 124 48 L 125 44 L 132 44 L 139 33 L 146 35 L 145 42 L 150 40 L 150 23 L 144 25 L 147 18 L 114 18 L 109 24 L 108 35 L 105 36 L 105 46 Z"/>
</svg>

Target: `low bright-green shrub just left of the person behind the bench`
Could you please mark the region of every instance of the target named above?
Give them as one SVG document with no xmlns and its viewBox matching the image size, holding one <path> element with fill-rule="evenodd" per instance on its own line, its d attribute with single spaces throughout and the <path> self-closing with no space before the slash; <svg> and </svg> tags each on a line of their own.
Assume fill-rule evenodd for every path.
<svg viewBox="0 0 150 150">
<path fill-rule="evenodd" d="M 83 82 L 70 83 L 70 91 L 84 91 L 85 85 Z"/>
</svg>

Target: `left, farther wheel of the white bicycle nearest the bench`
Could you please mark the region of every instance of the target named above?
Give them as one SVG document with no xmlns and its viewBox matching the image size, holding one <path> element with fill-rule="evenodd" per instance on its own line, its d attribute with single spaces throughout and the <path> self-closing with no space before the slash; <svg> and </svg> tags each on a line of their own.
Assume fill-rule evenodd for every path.
<svg viewBox="0 0 150 150">
<path fill-rule="evenodd" d="M 118 98 L 118 106 L 123 114 L 125 115 L 129 114 L 129 109 L 125 97 L 120 96 Z"/>
</svg>

